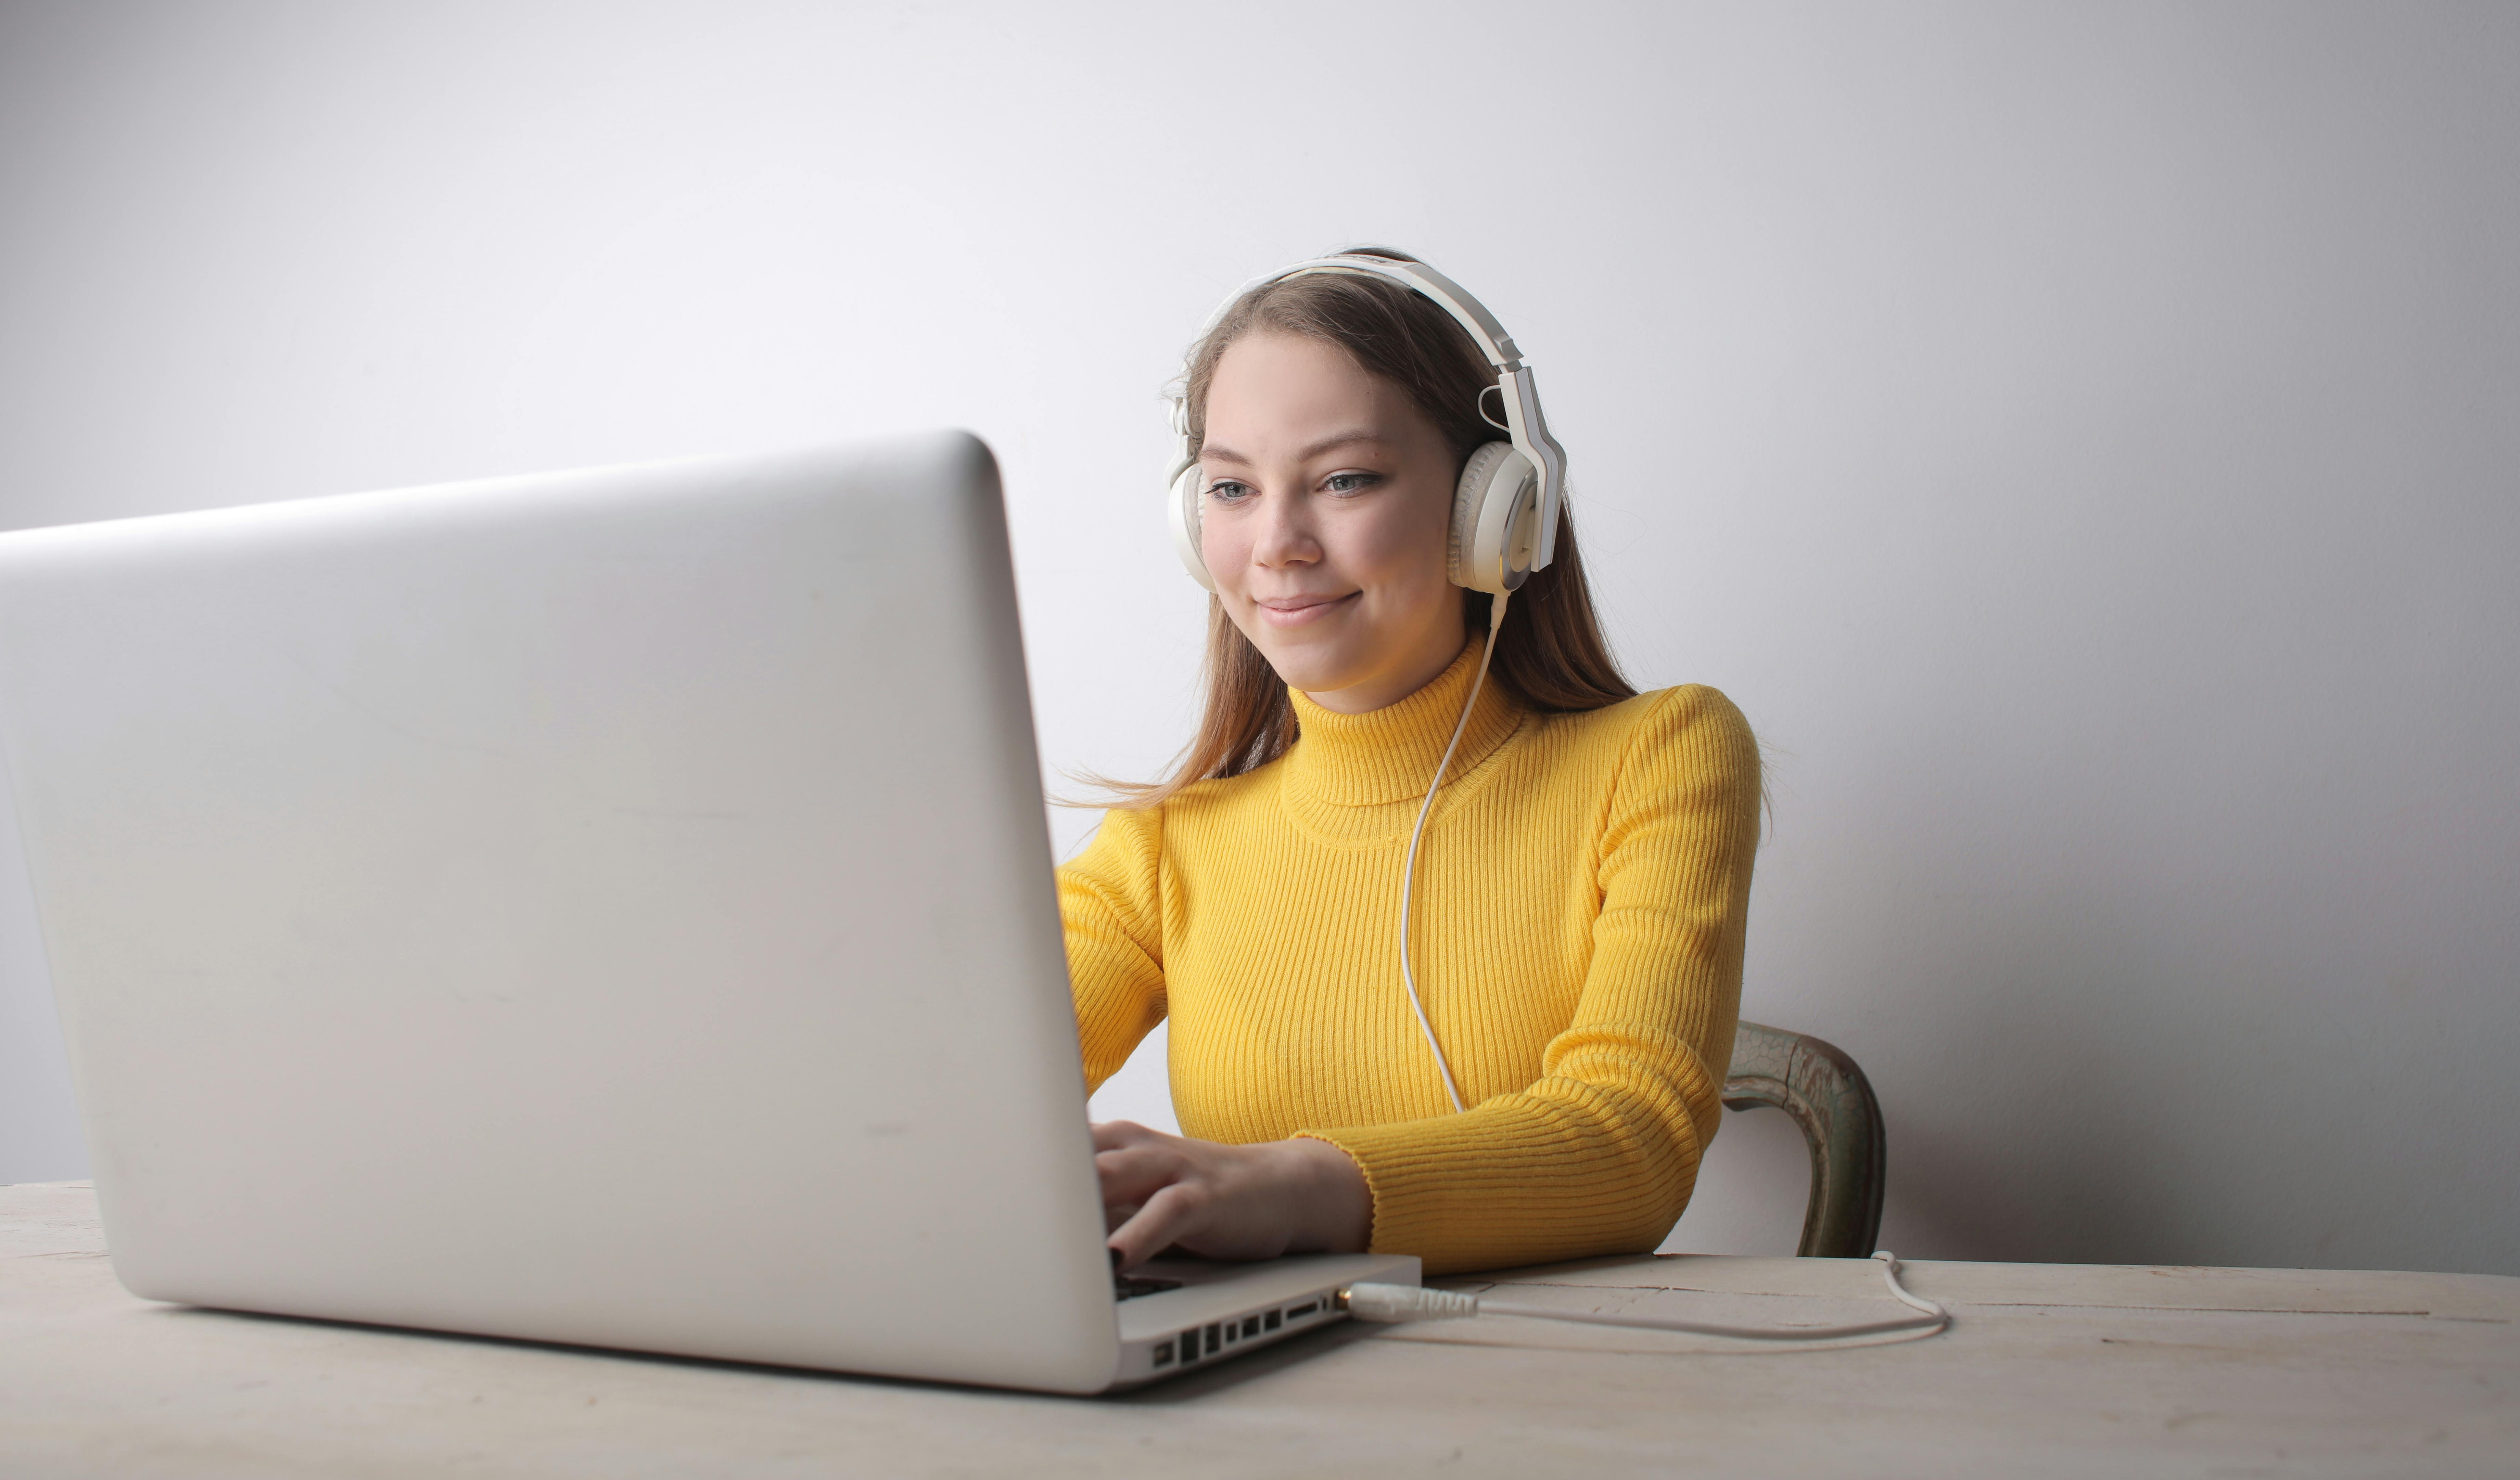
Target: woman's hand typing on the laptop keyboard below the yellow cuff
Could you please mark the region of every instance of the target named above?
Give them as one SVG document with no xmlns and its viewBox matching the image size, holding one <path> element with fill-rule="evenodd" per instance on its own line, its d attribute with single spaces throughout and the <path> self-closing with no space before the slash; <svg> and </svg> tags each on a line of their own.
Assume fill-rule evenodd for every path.
<svg viewBox="0 0 2520 1480">
<path fill-rule="evenodd" d="M 1126 1119 L 1094 1127 L 1094 1170 L 1119 1268 L 1179 1246 L 1205 1258 L 1363 1253 L 1373 1193 L 1326 1140 L 1230 1147 Z"/>
</svg>

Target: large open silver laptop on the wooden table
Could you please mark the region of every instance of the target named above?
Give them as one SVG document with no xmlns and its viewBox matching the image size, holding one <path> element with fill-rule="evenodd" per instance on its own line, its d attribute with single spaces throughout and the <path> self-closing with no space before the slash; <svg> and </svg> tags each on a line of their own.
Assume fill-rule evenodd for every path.
<svg viewBox="0 0 2520 1480">
<path fill-rule="evenodd" d="M 139 1296 L 1099 1392 L 1116 1288 L 965 434 L 0 535 L 0 754 Z"/>
</svg>

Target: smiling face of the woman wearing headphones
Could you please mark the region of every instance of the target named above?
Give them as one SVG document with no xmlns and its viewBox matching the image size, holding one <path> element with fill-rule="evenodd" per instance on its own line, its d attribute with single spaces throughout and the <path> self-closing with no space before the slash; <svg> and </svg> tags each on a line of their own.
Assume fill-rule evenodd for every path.
<svg viewBox="0 0 2520 1480">
<path fill-rule="evenodd" d="M 1227 345 L 1207 386 L 1200 555 L 1225 615 L 1323 708 L 1396 703 L 1462 653 L 1444 575 L 1459 469 L 1406 391 L 1290 333 Z"/>
</svg>

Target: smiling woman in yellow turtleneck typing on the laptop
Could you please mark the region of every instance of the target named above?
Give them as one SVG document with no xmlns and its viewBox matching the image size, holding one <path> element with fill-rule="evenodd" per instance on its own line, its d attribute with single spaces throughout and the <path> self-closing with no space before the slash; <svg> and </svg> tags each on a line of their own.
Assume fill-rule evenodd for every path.
<svg viewBox="0 0 2520 1480">
<path fill-rule="evenodd" d="M 1187 1137 L 1094 1127 L 1121 1268 L 1641 1253 L 1688 1203 L 1759 751 L 1721 693 L 1620 678 L 1562 512 L 1489 656 L 1449 567 L 1494 411 L 1472 335 L 1376 275 L 1263 282 L 1192 350 L 1207 714 L 1058 870 L 1089 1084 L 1172 1019 Z"/>
</svg>

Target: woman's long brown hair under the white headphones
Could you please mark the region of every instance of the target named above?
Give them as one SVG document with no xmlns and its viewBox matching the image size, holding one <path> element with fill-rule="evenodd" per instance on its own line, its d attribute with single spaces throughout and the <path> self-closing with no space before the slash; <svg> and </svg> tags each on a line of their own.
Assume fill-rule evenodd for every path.
<svg viewBox="0 0 2520 1480">
<path fill-rule="evenodd" d="M 1351 247 L 1358 255 L 1414 262 L 1389 247 Z M 1479 396 L 1497 373 L 1469 333 L 1431 300 L 1386 277 L 1310 275 L 1265 282 L 1232 303 L 1217 328 L 1189 348 L 1182 378 L 1189 408 L 1189 451 L 1207 436 L 1207 386 L 1227 345 L 1252 330 L 1298 333 L 1328 340 L 1409 393 L 1409 401 L 1452 446 L 1454 477 L 1497 429 L 1479 413 Z M 1487 630 L 1494 598 L 1462 593 L 1462 635 Z M 1527 708 L 1567 714 L 1633 698 L 1635 686 L 1618 671 L 1593 613 L 1593 587 L 1583 577 L 1575 522 L 1557 509 L 1557 557 L 1535 570 L 1504 608 L 1489 681 Z M 1285 681 L 1260 648 L 1207 598 L 1207 708 L 1200 731 L 1162 782 L 1101 782 L 1124 807 L 1159 807 L 1192 782 L 1255 772 L 1295 744 L 1295 706 Z"/>
</svg>

